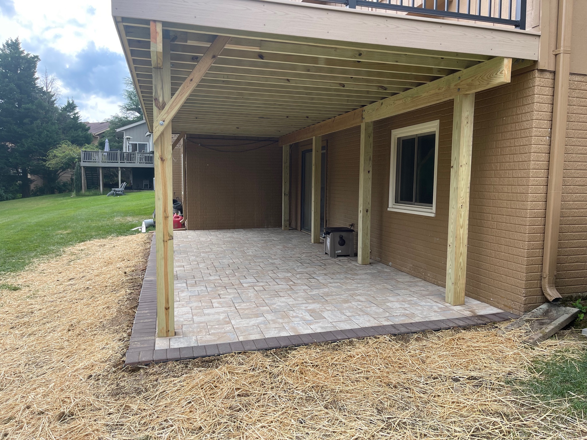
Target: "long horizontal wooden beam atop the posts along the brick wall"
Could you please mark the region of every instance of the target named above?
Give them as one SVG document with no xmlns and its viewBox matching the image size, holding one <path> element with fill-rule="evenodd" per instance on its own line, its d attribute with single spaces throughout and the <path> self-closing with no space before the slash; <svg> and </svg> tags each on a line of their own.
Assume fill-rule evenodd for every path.
<svg viewBox="0 0 587 440">
<path fill-rule="evenodd" d="M 363 121 L 376 121 L 406 111 L 438 104 L 454 99 L 460 94 L 507 84 L 511 80 L 511 58 L 495 57 L 484 63 L 453 73 L 431 83 L 423 84 L 406 92 L 369 104 L 362 109 L 349 111 L 311 127 L 302 128 L 279 138 L 279 144 L 293 144 L 313 136 L 323 136 L 334 131 L 356 127 Z"/>
</svg>

